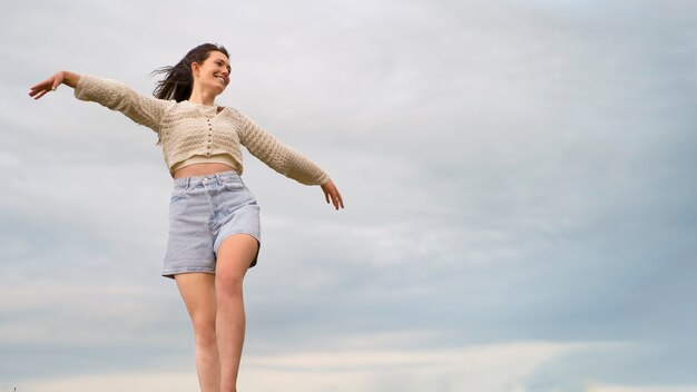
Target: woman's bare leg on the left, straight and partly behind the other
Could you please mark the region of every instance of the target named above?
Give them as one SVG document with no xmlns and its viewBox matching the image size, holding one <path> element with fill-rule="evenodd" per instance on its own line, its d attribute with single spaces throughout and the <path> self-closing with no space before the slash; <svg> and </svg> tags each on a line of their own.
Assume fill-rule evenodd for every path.
<svg viewBox="0 0 697 392">
<path fill-rule="evenodd" d="M 216 344 L 215 276 L 205 273 L 178 274 L 177 287 L 192 317 L 196 340 L 196 371 L 202 392 L 218 392 L 220 361 Z"/>
</svg>

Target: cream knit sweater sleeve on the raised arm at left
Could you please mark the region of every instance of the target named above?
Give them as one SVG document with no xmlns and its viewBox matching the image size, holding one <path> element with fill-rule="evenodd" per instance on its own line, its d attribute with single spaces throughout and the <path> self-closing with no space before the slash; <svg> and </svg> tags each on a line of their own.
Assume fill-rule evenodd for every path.
<svg viewBox="0 0 697 392">
<path fill-rule="evenodd" d="M 80 76 L 80 80 L 75 87 L 75 97 L 120 111 L 135 122 L 146 126 L 156 133 L 159 133 L 163 114 L 169 106 L 175 104 L 171 100 L 157 99 L 138 94 L 120 81 L 90 75 Z"/>
</svg>

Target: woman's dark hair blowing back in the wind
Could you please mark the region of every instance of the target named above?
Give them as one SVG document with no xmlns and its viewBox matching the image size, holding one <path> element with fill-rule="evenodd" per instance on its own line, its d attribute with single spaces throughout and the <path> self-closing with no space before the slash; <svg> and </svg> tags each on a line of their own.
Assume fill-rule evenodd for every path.
<svg viewBox="0 0 697 392">
<path fill-rule="evenodd" d="M 194 87 L 192 62 L 204 63 L 212 51 L 219 51 L 229 58 L 225 47 L 215 43 L 204 43 L 189 50 L 174 67 L 161 67 L 153 71 L 151 76 L 165 74 L 165 78 L 157 82 L 153 95 L 159 99 L 174 99 L 177 102 L 188 99 Z"/>
</svg>

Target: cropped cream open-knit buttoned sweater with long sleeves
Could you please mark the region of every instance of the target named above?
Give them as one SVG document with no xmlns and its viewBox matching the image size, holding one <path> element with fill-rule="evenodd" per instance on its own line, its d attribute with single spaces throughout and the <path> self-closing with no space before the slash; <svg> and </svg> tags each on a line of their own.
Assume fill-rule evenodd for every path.
<svg viewBox="0 0 697 392">
<path fill-rule="evenodd" d="M 189 101 L 158 99 L 136 92 L 119 81 L 82 75 L 75 88 L 78 99 L 94 101 L 126 115 L 157 133 L 165 164 L 174 169 L 193 157 L 197 161 L 232 163 L 242 175 L 240 145 L 274 170 L 306 185 L 328 182 L 327 174 L 310 159 L 284 145 L 239 110 L 225 107 L 213 118 Z M 177 166 L 179 165 L 179 166 Z"/>
</svg>

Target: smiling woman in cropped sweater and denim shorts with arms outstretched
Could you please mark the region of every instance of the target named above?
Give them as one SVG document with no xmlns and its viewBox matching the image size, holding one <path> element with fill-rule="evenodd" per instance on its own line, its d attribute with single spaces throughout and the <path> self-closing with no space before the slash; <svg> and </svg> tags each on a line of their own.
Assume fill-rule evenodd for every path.
<svg viewBox="0 0 697 392">
<path fill-rule="evenodd" d="M 31 87 L 35 99 L 61 84 L 81 100 L 118 110 L 157 133 L 174 177 L 163 275 L 173 277 L 194 325 L 203 392 L 236 391 L 245 332 L 243 280 L 259 249 L 258 206 L 239 177 L 240 145 L 275 170 L 320 185 L 327 203 L 343 208 L 330 177 L 249 118 L 215 98 L 229 82 L 224 47 L 190 50 L 157 84 L 155 97 L 124 84 L 60 71 Z"/>
</svg>

